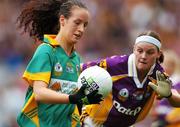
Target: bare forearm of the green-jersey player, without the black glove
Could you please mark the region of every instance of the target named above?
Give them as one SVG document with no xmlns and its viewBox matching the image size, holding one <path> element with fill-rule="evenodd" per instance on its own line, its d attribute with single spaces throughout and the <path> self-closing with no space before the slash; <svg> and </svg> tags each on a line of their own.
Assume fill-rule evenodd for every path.
<svg viewBox="0 0 180 127">
<path fill-rule="evenodd" d="M 47 88 L 47 84 L 43 81 L 34 81 L 33 92 L 35 100 L 43 103 L 51 104 L 68 104 L 69 95 L 58 93 Z"/>
</svg>

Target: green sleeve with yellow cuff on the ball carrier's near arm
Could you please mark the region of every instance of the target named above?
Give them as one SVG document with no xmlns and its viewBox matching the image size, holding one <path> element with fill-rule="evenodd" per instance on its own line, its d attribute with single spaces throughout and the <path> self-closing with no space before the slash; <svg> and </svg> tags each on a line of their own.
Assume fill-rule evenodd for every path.
<svg viewBox="0 0 180 127">
<path fill-rule="evenodd" d="M 44 81 L 49 84 L 52 70 L 51 54 L 50 46 L 47 44 L 38 47 L 23 74 L 23 79 L 25 79 L 29 85 L 32 85 L 35 80 Z"/>
</svg>

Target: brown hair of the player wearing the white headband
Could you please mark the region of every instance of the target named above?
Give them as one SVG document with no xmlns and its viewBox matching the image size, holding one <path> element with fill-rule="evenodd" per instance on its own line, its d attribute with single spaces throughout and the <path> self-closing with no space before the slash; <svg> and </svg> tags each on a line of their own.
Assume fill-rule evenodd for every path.
<svg viewBox="0 0 180 127">
<path fill-rule="evenodd" d="M 159 40 L 161 42 L 161 39 L 159 37 L 159 34 L 154 32 L 154 31 L 146 31 L 146 32 L 143 32 L 141 33 L 138 37 L 140 36 L 143 36 L 143 35 L 148 35 L 148 36 L 151 36 L 151 37 L 154 37 L 156 38 L 157 40 Z M 159 51 L 159 48 L 157 47 L 158 51 Z M 163 53 L 161 54 L 161 56 L 159 57 L 159 59 L 157 60 L 159 63 L 162 63 L 164 61 L 164 55 Z"/>
</svg>

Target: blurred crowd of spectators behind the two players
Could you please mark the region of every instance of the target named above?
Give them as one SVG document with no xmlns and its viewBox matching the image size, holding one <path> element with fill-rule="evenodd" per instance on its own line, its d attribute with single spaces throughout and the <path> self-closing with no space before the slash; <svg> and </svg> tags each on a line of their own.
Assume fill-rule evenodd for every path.
<svg viewBox="0 0 180 127">
<path fill-rule="evenodd" d="M 34 40 L 21 34 L 15 25 L 25 1 L 28 0 L 0 0 L 0 127 L 17 127 L 16 116 L 27 88 L 21 76 L 36 49 Z M 180 0 L 84 1 L 91 13 L 88 30 L 77 45 L 84 61 L 130 54 L 136 36 L 154 30 L 161 37 L 163 50 L 172 54 L 164 66 L 171 69 L 169 75 L 174 84 L 180 81 Z M 145 121 L 136 127 L 160 127 L 159 114 L 166 115 L 174 109 L 161 108 L 160 103 L 156 102 Z M 163 121 L 169 122 L 166 117 Z M 180 123 L 180 116 L 176 123 Z"/>
</svg>

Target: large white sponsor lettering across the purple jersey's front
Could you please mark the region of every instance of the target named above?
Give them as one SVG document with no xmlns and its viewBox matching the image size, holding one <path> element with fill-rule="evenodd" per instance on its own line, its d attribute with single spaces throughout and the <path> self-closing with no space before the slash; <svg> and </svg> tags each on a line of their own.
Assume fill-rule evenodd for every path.
<svg viewBox="0 0 180 127">
<path fill-rule="evenodd" d="M 116 100 L 113 101 L 113 105 L 118 110 L 118 112 L 126 114 L 126 115 L 130 115 L 130 116 L 136 116 L 141 111 L 141 107 L 137 107 L 134 110 L 130 108 L 127 109 L 121 106 L 121 104 L 117 102 Z"/>
</svg>

